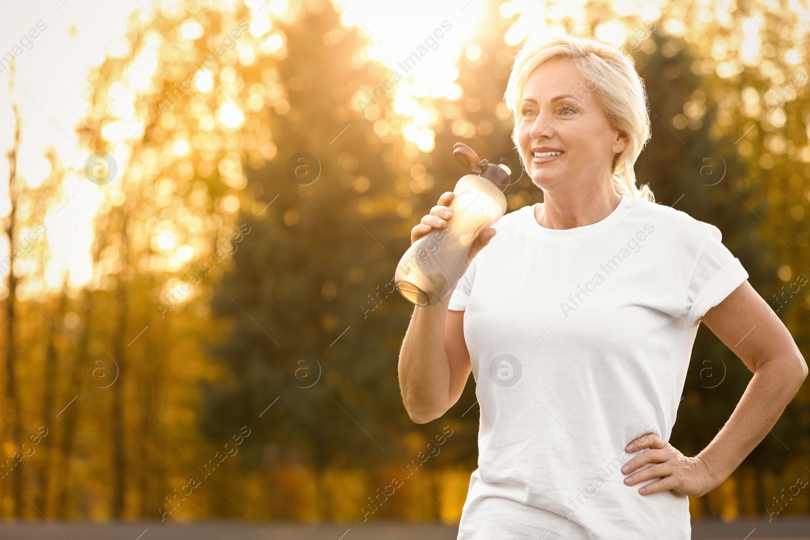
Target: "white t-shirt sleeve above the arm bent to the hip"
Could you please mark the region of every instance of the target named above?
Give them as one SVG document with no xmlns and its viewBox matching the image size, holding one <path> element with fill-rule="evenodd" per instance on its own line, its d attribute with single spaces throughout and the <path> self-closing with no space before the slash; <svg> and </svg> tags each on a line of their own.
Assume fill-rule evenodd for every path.
<svg viewBox="0 0 810 540">
<path fill-rule="evenodd" d="M 686 318 L 692 325 L 748 279 L 740 259 L 723 245 L 720 229 L 709 224 L 706 236 L 686 293 Z"/>
</svg>

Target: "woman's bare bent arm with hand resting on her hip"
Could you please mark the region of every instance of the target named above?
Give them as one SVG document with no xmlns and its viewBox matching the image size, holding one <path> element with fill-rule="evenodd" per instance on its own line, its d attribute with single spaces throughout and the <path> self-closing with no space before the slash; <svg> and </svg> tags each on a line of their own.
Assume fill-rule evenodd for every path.
<svg viewBox="0 0 810 540">
<path fill-rule="evenodd" d="M 644 495 L 675 489 L 697 497 L 723 483 L 768 435 L 808 376 L 807 363 L 790 332 L 748 281 L 700 320 L 754 376 L 723 429 L 697 456 L 684 457 L 651 434 L 631 442 L 634 448 L 628 448 L 629 452 L 649 450 L 628 461 L 628 470 L 623 468 L 622 472 L 633 472 L 646 463 L 653 465 L 625 478 L 625 483 L 661 478 L 645 486 Z"/>
</svg>

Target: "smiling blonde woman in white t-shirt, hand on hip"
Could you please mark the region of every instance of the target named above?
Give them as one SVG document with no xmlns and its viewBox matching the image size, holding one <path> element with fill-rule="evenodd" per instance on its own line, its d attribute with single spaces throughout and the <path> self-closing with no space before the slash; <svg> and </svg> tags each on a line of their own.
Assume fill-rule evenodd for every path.
<svg viewBox="0 0 810 540">
<path fill-rule="evenodd" d="M 688 496 L 767 435 L 804 358 L 719 229 L 637 189 L 650 121 L 628 57 L 570 37 L 527 45 L 505 100 L 544 202 L 480 233 L 453 294 L 414 308 L 399 356 L 416 423 L 475 378 L 479 466 L 458 538 L 690 538 Z M 411 241 L 445 227 L 452 198 Z M 667 440 L 700 321 L 754 375 L 714 440 L 685 457 Z"/>
</svg>

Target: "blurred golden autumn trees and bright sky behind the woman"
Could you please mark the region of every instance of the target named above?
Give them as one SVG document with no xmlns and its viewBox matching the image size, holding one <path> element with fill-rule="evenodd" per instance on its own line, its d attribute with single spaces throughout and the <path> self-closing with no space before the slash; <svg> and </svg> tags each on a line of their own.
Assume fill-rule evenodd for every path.
<svg viewBox="0 0 810 540">
<path fill-rule="evenodd" d="M 411 422 L 397 359 L 413 306 L 392 279 L 411 227 L 463 175 L 455 142 L 509 164 L 509 211 L 542 201 L 502 100 L 530 38 L 633 57 L 652 121 L 638 185 L 718 226 L 810 357 L 806 0 L 0 9 L 0 516 L 14 538 L 40 534 L 36 520 L 41 538 L 70 536 L 67 521 L 147 522 L 135 538 L 203 520 L 244 522 L 241 538 L 270 521 L 455 538 L 475 387 Z M 701 327 L 671 443 L 698 453 L 750 377 Z M 735 474 L 690 499 L 715 527 L 703 538 L 810 523 L 808 404 L 804 385 Z"/>
</svg>

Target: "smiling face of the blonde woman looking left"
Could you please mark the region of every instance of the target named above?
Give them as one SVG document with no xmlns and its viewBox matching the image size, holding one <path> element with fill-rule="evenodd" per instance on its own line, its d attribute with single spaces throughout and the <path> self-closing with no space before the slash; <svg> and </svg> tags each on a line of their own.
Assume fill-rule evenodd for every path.
<svg viewBox="0 0 810 540">
<path fill-rule="evenodd" d="M 567 58 L 532 71 L 519 105 L 518 142 L 531 180 L 556 192 L 595 189 L 612 173 L 627 138 L 613 130 L 587 81 Z M 563 152 L 539 157 L 538 153 Z"/>
</svg>

